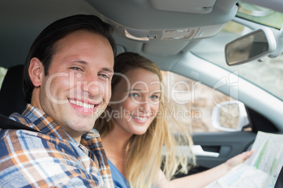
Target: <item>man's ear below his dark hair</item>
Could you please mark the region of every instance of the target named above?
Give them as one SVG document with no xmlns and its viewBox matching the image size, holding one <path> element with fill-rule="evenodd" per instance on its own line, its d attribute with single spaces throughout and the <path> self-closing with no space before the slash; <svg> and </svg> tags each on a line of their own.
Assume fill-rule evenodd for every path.
<svg viewBox="0 0 283 188">
<path fill-rule="evenodd" d="M 32 60 L 30 60 L 28 73 L 30 74 L 30 80 L 32 81 L 34 87 L 39 87 L 42 85 L 44 78 L 44 66 L 38 58 L 32 58 Z"/>
</svg>

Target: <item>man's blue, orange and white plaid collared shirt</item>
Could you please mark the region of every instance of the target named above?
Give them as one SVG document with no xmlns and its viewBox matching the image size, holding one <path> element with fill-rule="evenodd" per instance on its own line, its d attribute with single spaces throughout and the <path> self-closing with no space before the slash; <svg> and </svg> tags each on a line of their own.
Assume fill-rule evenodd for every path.
<svg viewBox="0 0 283 188">
<path fill-rule="evenodd" d="M 114 187 L 97 130 L 76 142 L 41 109 L 10 119 L 29 130 L 0 130 L 0 187 Z"/>
</svg>

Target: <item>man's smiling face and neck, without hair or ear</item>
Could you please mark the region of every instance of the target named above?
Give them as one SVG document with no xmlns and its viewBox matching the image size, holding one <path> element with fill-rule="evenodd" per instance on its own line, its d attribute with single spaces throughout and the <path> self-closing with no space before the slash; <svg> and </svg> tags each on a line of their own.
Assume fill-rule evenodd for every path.
<svg viewBox="0 0 283 188">
<path fill-rule="evenodd" d="M 93 128 L 111 98 L 113 50 L 105 37 L 87 31 L 68 34 L 56 49 L 35 106 L 77 140 Z"/>
</svg>

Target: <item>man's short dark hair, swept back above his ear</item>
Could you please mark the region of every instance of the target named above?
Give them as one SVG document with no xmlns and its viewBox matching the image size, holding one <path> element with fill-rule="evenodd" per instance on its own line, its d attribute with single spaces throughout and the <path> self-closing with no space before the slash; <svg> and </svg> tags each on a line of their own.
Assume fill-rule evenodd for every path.
<svg viewBox="0 0 283 188">
<path fill-rule="evenodd" d="M 51 25 L 46 27 L 39 36 L 37 36 L 37 39 L 34 40 L 30 52 L 27 55 L 27 59 L 25 60 L 23 78 L 25 102 L 31 102 L 32 90 L 34 89 L 34 85 L 28 73 L 30 60 L 32 60 L 32 58 L 38 58 L 44 65 L 44 76 L 48 76 L 52 58 L 56 53 L 56 42 L 77 30 L 87 30 L 106 37 L 111 44 L 114 56 L 116 55 L 115 41 L 111 35 L 113 27 L 103 22 L 95 15 L 72 15 L 51 23 Z"/>
</svg>

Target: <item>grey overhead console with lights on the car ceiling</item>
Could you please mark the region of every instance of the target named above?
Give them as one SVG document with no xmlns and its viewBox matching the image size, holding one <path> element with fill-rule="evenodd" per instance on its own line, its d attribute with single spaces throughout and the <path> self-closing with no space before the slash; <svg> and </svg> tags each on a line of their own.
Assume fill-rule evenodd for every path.
<svg viewBox="0 0 283 188">
<path fill-rule="evenodd" d="M 215 36 L 237 13 L 237 0 L 86 0 L 125 39 L 191 41 Z"/>
</svg>

